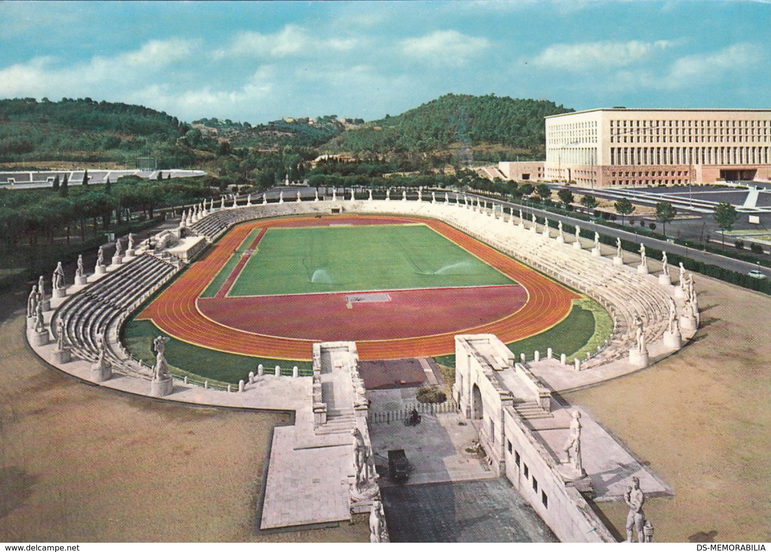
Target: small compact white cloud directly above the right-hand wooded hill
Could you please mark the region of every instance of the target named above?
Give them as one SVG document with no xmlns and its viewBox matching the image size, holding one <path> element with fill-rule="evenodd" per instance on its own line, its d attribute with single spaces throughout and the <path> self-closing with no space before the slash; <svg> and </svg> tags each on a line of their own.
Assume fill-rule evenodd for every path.
<svg viewBox="0 0 771 552">
<path fill-rule="evenodd" d="M 401 42 L 402 53 L 413 59 L 433 64 L 465 63 L 490 46 L 490 41 L 460 32 L 434 31 L 416 39 Z"/>
</svg>

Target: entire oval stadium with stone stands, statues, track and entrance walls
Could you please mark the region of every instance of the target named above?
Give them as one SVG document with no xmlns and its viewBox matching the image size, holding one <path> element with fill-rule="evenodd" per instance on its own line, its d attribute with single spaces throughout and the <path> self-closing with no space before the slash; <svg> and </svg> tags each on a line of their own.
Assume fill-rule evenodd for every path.
<svg viewBox="0 0 771 552">
<path fill-rule="evenodd" d="M 540 494 L 525 498 L 558 539 L 611 541 L 581 494 L 620 500 L 621 486 L 592 477 L 603 451 L 586 453 L 586 471 L 571 479 L 561 445 L 534 436 L 557 433 L 570 416 L 551 392 L 672 354 L 698 327 L 698 306 L 687 282 L 672 285 L 668 267 L 649 274 L 645 254 L 630 267 L 585 230 L 554 226 L 420 191 L 401 200 L 298 194 L 188 206 L 178 227 L 139 244 L 119 240 L 109 265 L 104 247 L 94 274 L 79 273 L 51 298 L 44 289 L 28 311 L 27 337 L 45 361 L 107 388 L 295 411 L 294 426 L 274 433 L 262 529 L 345 520 L 375 512 L 384 497 L 387 507 L 378 478 L 362 475 L 351 431 L 376 465 L 379 422 L 403 412 L 370 411 L 366 393 L 432 383 L 429 372 L 439 371 L 416 377 L 410 359 L 452 366 L 452 396 L 422 412 L 470 419 L 492 473 L 517 488 L 532 483 Z M 45 301 L 49 308 L 38 308 Z M 673 326 L 675 301 L 682 315 Z M 392 370 L 390 385 L 373 365 Z M 530 419 L 553 427 L 523 430 Z M 309 451 L 333 466 L 325 469 L 336 483 L 289 473 L 287 464 L 302 462 L 288 459 Z M 645 466 L 629 473 L 669 492 Z M 286 492 L 298 478 L 303 497 Z M 331 495 L 338 507 L 319 513 L 313 505 Z M 293 503 L 288 517 L 278 514 L 282 500 Z"/>
</svg>

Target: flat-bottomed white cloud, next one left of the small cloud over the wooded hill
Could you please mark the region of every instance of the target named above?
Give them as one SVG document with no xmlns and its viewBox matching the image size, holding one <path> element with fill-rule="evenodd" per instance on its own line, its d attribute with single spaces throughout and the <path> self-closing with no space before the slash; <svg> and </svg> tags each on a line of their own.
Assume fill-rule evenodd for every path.
<svg viewBox="0 0 771 552">
<path fill-rule="evenodd" d="M 286 25 L 273 34 L 241 32 L 225 49 L 213 52 L 214 59 L 230 56 L 286 57 L 322 55 L 330 50 L 344 52 L 352 50 L 359 43 L 353 38 L 320 39 L 311 35 L 308 29 L 298 25 Z"/>
</svg>

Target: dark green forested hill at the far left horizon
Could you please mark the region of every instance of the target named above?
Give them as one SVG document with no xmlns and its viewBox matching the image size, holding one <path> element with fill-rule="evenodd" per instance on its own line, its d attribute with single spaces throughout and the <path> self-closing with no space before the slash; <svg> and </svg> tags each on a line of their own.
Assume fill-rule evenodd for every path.
<svg viewBox="0 0 771 552">
<path fill-rule="evenodd" d="M 168 166 L 192 157 L 176 140 L 189 130 L 177 117 L 126 103 L 63 98 L 0 99 L 0 161 L 130 163 L 139 150 L 154 150 Z"/>
</svg>

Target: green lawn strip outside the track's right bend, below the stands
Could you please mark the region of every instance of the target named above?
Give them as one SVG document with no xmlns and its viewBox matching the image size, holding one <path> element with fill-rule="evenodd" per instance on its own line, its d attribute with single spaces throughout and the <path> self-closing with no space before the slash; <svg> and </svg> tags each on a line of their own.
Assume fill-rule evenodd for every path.
<svg viewBox="0 0 771 552">
<path fill-rule="evenodd" d="M 570 314 L 553 328 L 517 342 L 507 343 L 507 346 L 517 355 L 517 362 L 523 352 L 527 360 L 533 360 L 536 351 L 540 352 L 541 358 L 545 358 L 549 347 L 555 357 L 559 358 L 565 353 L 568 362 L 573 362 L 576 356 L 583 355 L 585 358 L 587 351 L 596 352 L 597 345 L 601 345 L 610 337 L 612 329 L 610 315 L 597 302 L 584 298 L 573 301 Z M 438 364 L 455 368 L 455 355 L 438 356 L 434 360 Z"/>
</svg>

